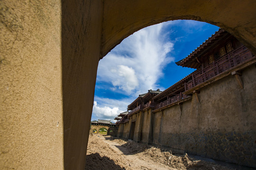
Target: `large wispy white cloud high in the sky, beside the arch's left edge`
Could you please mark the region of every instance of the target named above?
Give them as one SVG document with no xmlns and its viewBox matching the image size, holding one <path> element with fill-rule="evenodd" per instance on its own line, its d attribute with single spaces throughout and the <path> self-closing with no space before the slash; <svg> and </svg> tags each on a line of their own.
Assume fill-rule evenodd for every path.
<svg viewBox="0 0 256 170">
<path fill-rule="evenodd" d="M 174 61 L 167 56 L 174 44 L 162 36 L 165 25 L 146 27 L 121 42 L 101 59 L 97 80 L 111 83 L 112 90 L 134 96 L 157 89 L 155 83 L 163 76 L 163 68 Z"/>
</svg>

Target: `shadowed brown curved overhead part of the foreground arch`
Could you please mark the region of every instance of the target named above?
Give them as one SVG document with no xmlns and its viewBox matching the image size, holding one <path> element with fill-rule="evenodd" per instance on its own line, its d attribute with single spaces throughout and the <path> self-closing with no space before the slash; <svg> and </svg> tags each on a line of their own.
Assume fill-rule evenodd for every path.
<svg viewBox="0 0 256 170">
<path fill-rule="evenodd" d="M 177 19 L 191 19 L 219 26 L 256 53 L 255 6 L 255 0 L 105 1 L 101 58 L 134 32 L 146 26 Z"/>
</svg>

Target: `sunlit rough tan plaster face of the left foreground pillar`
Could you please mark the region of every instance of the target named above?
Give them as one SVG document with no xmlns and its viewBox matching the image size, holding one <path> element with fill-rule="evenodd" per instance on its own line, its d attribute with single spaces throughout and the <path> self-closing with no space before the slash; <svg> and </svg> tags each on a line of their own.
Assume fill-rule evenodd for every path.
<svg viewBox="0 0 256 170">
<path fill-rule="evenodd" d="M 0 169 L 63 169 L 61 2 L 0 7 Z"/>
</svg>

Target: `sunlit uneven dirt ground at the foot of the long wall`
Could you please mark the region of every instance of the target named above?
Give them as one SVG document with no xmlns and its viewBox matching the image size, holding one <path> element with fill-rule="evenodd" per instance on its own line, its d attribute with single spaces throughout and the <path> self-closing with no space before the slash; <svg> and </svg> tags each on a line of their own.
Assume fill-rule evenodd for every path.
<svg viewBox="0 0 256 170">
<path fill-rule="evenodd" d="M 113 136 L 89 137 L 85 170 L 231 170 L 206 161 L 196 161 L 186 153 Z"/>
</svg>

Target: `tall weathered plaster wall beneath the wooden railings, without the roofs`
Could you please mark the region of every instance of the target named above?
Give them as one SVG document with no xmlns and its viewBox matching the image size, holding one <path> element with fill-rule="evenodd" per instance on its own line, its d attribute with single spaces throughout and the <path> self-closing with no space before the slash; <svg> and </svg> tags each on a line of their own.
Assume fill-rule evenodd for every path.
<svg viewBox="0 0 256 170">
<path fill-rule="evenodd" d="M 129 124 L 136 120 L 134 141 L 256 167 L 255 73 L 255 65 L 243 70 L 243 89 L 229 75 L 201 88 L 199 102 L 194 93 L 179 105 L 132 115 Z M 124 126 L 123 130 L 129 129 Z M 123 137 L 128 138 L 125 133 Z"/>
</svg>

